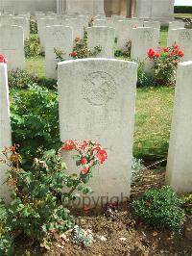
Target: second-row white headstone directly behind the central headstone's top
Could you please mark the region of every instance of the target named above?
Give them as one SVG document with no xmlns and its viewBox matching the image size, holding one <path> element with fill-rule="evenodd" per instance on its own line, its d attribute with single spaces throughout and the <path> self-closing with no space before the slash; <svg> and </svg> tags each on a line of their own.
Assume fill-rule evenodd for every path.
<svg viewBox="0 0 192 256">
<path fill-rule="evenodd" d="M 114 58 L 114 29 L 108 27 L 90 27 L 87 29 L 87 47 L 94 52 L 96 46 L 101 52 L 96 58 Z"/>
</svg>

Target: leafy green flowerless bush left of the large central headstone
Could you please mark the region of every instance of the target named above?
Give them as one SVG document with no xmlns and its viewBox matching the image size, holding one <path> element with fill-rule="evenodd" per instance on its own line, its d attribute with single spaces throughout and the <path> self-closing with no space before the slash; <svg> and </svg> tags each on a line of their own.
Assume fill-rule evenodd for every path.
<svg viewBox="0 0 192 256">
<path fill-rule="evenodd" d="M 12 91 L 12 141 L 21 145 L 24 163 L 42 151 L 60 146 L 58 95 L 33 85 Z"/>
</svg>

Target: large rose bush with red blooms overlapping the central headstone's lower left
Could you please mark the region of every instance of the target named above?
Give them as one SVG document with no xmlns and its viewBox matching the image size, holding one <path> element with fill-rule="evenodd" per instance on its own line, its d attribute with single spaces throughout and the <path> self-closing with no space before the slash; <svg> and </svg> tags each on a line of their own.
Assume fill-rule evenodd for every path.
<svg viewBox="0 0 192 256">
<path fill-rule="evenodd" d="M 34 159 L 31 168 L 25 169 L 16 149 L 13 145 L 1 152 L 4 157 L 0 163 L 9 166 L 7 185 L 11 187 L 12 202 L 7 211 L 0 204 L 0 224 L 3 220 L 0 249 L 4 252 L 8 249 L 8 239 L 3 240 L 2 237 L 6 232 L 21 233 L 48 248 L 60 233 L 74 226 L 74 218 L 68 210 L 69 202 L 76 198 L 76 190 L 84 194 L 91 191 L 87 183 L 93 176 L 93 168 L 103 164 L 108 155 L 96 141 L 68 140 L 64 141 L 58 152 L 44 152 L 41 159 Z M 79 174 L 66 173 L 62 151 L 76 151 L 73 159 L 76 166 L 80 167 Z M 4 225 L 7 219 L 11 226 L 8 230 Z M 91 240 L 91 234 L 84 233 L 81 242 L 87 246 Z"/>
</svg>

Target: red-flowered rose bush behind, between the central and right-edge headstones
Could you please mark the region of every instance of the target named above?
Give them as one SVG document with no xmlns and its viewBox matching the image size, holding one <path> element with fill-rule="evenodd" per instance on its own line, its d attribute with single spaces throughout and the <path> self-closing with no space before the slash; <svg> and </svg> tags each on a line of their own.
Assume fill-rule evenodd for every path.
<svg viewBox="0 0 192 256">
<path fill-rule="evenodd" d="M 159 48 L 157 52 L 150 48 L 148 57 L 153 62 L 154 80 L 156 86 L 174 86 L 176 83 L 176 70 L 183 52 L 177 44 L 172 47 Z"/>
</svg>

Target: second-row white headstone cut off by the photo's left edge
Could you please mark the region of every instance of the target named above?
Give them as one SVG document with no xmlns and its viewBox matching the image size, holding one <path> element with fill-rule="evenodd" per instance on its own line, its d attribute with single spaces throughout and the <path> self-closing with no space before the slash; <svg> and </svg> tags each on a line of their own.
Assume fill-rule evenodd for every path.
<svg viewBox="0 0 192 256">
<path fill-rule="evenodd" d="M 25 68 L 24 34 L 18 26 L 0 26 L 0 53 L 8 60 L 8 69 Z"/>
</svg>

